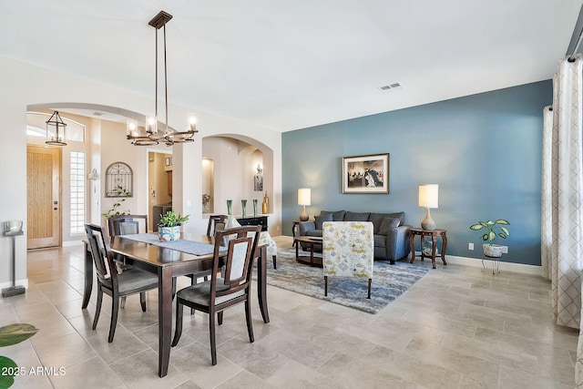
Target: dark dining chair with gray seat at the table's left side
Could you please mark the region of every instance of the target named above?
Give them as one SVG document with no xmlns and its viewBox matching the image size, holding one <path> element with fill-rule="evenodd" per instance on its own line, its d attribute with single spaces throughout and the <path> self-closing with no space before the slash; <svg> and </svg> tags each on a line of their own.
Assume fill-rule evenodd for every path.
<svg viewBox="0 0 583 389">
<path fill-rule="evenodd" d="M 113 342 L 118 325 L 119 300 L 139 293 L 142 312 L 146 312 L 146 291 L 158 289 L 158 275 L 138 268 L 126 269 L 118 273 L 118 267 L 109 248 L 105 231 L 95 224 L 86 224 L 87 240 L 91 257 L 97 272 L 97 306 L 93 330 L 97 328 L 103 293 L 111 296 L 111 322 L 107 342 Z"/>
</svg>

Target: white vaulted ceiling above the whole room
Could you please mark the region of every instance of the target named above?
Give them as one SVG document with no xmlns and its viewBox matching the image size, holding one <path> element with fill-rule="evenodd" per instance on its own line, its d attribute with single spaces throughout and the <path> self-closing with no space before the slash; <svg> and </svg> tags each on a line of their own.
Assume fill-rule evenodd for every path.
<svg viewBox="0 0 583 389">
<path fill-rule="evenodd" d="M 153 97 L 164 10 L 172 103 L 287 131 L 551 78 L 582 3 L 5 0 L 0 56 Z"/>
</svg>

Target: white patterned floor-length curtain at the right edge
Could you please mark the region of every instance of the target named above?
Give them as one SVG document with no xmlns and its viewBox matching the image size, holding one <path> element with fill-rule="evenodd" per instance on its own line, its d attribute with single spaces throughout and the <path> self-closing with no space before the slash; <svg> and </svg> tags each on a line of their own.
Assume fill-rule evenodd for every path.
<svg viewBox="0 0 583 389">
<path fill-rule="evenodd" d="M 552 282 L 557 324 L 579 328 L 583 268 L 583 136 L 581 56 L 563 58 L 553 78 L 553 109 L 544 110 L 541 193 L 541 264 Z M 552 126 L 549 126 L 552 112 Z M 550 150 L 550 153 L 549 153 Z M 549 215 L 550 210 L 550 215 Z M 550 243 L 550 253 L 549 253 Z M 575 366 L 583 387 L 583 332 L 579 329 Z"/>
</svg>

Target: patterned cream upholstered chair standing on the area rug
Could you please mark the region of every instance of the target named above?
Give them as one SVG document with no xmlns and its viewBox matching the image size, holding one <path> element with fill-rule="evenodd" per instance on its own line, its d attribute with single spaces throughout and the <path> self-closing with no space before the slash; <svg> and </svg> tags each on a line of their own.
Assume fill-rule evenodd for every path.
<svg viewBox="0 0 583 389">
<path fill-rule="evenodd" d="M 324 296 L 328 277 L 368 279 L 368 296 L 373 283 L 374 235 L 371 221 L 324 221 L 322 224 L 322 267 Z"/>
</svg>

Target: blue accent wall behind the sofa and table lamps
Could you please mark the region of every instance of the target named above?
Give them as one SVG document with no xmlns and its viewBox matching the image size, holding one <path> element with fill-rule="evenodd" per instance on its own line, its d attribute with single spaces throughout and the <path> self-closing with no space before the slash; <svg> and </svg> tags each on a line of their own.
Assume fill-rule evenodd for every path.
<svg viewBox="0 0 583 389">
<path fill-rule="evenodd" d="M 418 186 L 439 184 L 431 215 L 447 230 L 447 255 L 481 259 L 481 234 L 469 226 L 506 219 L 502 260 L 540 265 L 542 109 L 551 103 L 547 80 L 285 132 L 282 233 L 292 235 L 302 211 L 299 188 L 312 189 L 311 219 L 320 210 L 404 210 L 418 227 Z M 343 194 L 343 157 L 381 153 L 390 153 L 389 194 Z"/>
</svg>

